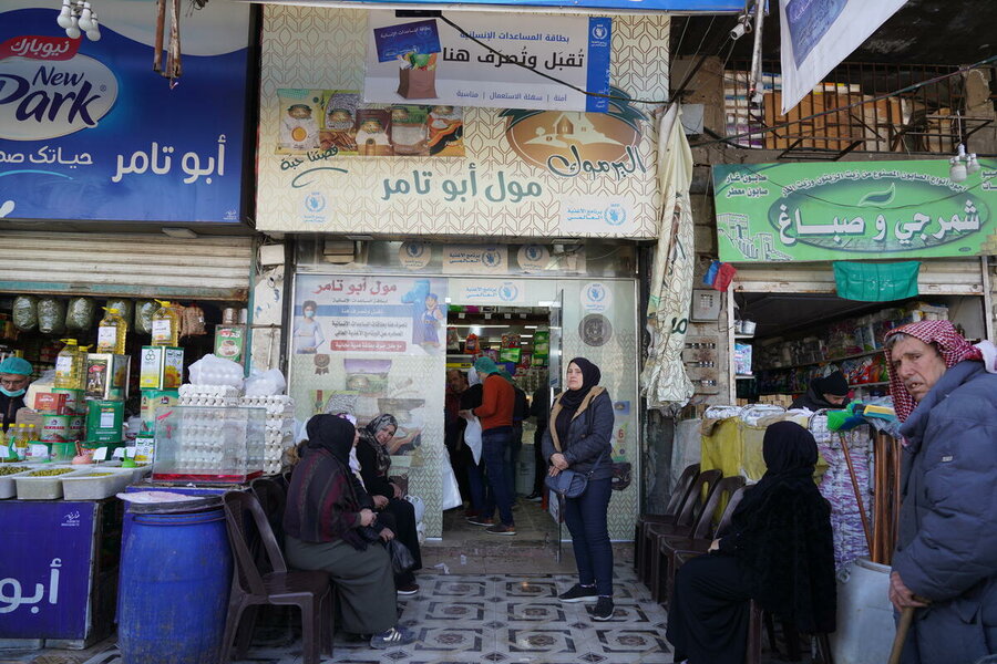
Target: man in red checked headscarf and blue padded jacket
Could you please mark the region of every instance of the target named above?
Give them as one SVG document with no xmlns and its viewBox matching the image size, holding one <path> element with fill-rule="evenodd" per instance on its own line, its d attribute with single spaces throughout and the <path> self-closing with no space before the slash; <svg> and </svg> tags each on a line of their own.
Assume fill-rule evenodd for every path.
<svg viewBox="0 0 997 664">
<path fill-rule="evenodd" d="M 973 664 L 997 653 L 997 366 L 948 321 L 886 333 L 903 422 L 890 601 L 915 611 L 901 662 Z"/>
</svg>

